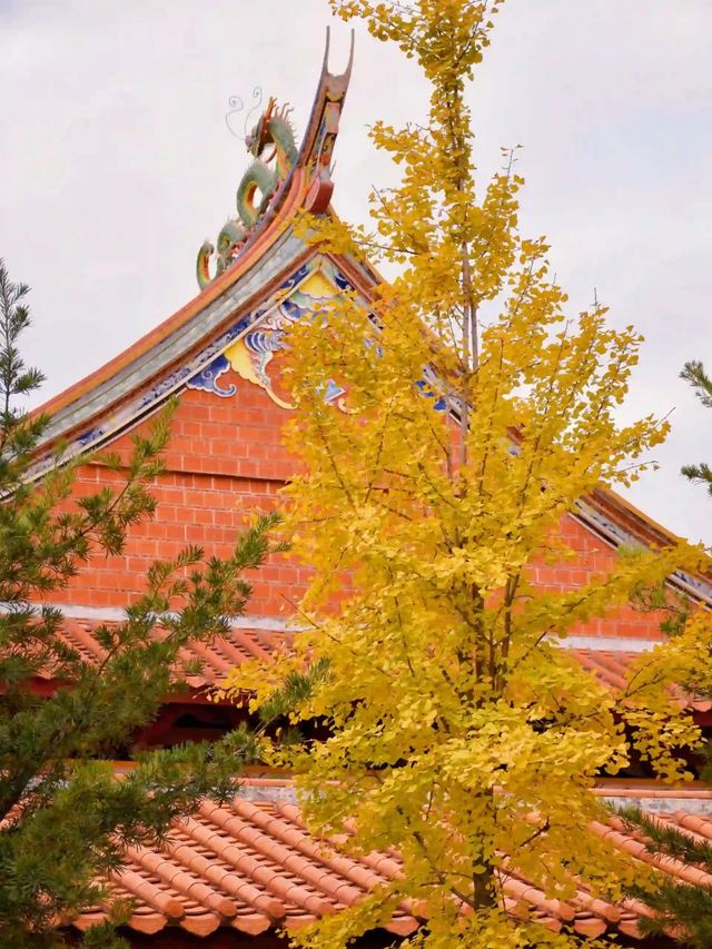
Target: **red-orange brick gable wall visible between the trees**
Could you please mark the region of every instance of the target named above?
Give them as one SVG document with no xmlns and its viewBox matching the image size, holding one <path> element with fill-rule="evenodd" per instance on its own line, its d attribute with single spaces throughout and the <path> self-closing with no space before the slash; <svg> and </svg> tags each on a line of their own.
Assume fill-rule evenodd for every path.
<svg viewBox="0 0 712 949">
<path fill-rule="evenodd" d="M 288 413 L 263 389 L 233 373 L 220 378 L 224 386 L 230 383 L 238 393 L 229 398 L 202 391 L 184 393 L 172 421 L 167 471 L 152 488 L 158 500 L 156 518 L 131 530 L 123 556 L 92 560 L 63 591 L 62 602 L 123 606 L 144 589 L 146 570 L 154 560 L 175 556 L 188 543 L 201 545 L 208 554 L 226 555 L 244 518 L 278 503 L 279 488 L 295 469 L 280 442 L 280 426 Z M 142 423 L 139 431 L 149 424 Z M 129 437 L 122 436 L 111 448 L 128 452 Z M 102 466 L 87 465 L 79 472 L 77 491 L 86 493 L 119 481 Z M 561 530 L 578 557 L 554 566 L 535 564 L 538 584 L 571 589 L 613 566 L 611 547 L 573 518 L 563 518 Z M 273 557 L 254 576 L 250 612 L 287 617 L 307 575 L 285 556 Z M 655 617 L 629 609 L 576 632 L 649 637 L 656 629 Z"/>
</svg>

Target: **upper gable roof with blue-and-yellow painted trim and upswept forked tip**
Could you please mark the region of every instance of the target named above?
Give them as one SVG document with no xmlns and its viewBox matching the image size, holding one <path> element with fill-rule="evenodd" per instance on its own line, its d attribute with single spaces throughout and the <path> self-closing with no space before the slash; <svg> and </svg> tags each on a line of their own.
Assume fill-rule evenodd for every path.
<svg viewBox="0 0 712 949">
<path fill-rule="evenodd" d="M 176 314 L 97 372 L 41 406 L 39 411 L 51 421 L 40 448 L 36 476 L 41 476 L 55 464 L 51 449 L 58 443 L 62 443 L 66 458 L 102 447 L 186 388 L 227 395 L 217 385 L 217 378 L 230 362 L 226 360 L 226 354 L 235 347 L 241 346 L 243 350 L 231 362 L 231 367 L 244 378 L 267 387 L 263 369 L 271 358 L 271 350 L 279 345 L 276 340 L 281 328 L 308 312 L 315 293 L 324 296 L 329 290 L 348 289 L 368 306 L 379 277 L 366 261 L 323 253 L 295 234 L 295 220 L 301 210 L 330 212 L 332 159 L 350 78 L 353 38 L 352 55 L 344 72 L 329 71 L 328 53 L 327 33 L 304 138 L 291 158 L 285 159 L 283 177 L 277 175 L 259 204 L 255 198 L 258 178 L 250 179 L 250 174 L 254 177 L 255 172 L 248 169 L 240 182 L 238 207 L 241 195 L 243 210 L 254 216 L 254 223 L 247 227 L 245 219 L 233 220 L 246 234 L 244 239 L 235 243 L 230 238 L 233 243 L 229 240 L 224 246 L 221 271 L 208 279 L 201 293 Z M 270 116 L 280 118 L 283 125 L 286 122 L 284 109 L 277 111 L 270 100 L 246 139 L 253 155 L 258 157 L 265 145 L 265 122 Z M 261 159 L 256 164 L 261 167 Z M 269 190 L 273 187 L 274 190 Z M 217 243 L 220 245 L 219 239 Z M 326 291 L 315 290 L 315 280 L 320 281 Z M 250 346 L 253 352 L 246 354 L 245 347 Z M 247 365 L 250 359 L 251 366 Z M 245 366 L 247 375 L 243 372 Z M 274 401 L 283 405 L 278 398 Z M 675 540 L 671 532 L 606 488 L 582 500 L 571 516 L 612 547 L 632 542 L 660 547 Z M 712 603 L 709 577 L 675 573 L 671 582 L 693 597 Z"/>
</svg>

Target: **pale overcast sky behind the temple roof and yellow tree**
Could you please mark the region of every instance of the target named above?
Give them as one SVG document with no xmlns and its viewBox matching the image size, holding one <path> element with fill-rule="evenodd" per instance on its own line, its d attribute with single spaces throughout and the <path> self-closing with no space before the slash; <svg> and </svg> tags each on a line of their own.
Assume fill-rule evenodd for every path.
<svg viewBox="0 0 712 949">
<path fill-rule="evenodd" d="M 43 397 L 196 293 L 195 256 L 248 164 L 230 95 L 255 85 L 303 129 L 326 0 L 0 0 L 0 256 L 32 286 L 27 353 Z M 348 30 L 333 24 L 333 68 Z M 678 373 L 712 368 L 712 0 L 508 0 L 473 92 L 478 165 L 524 145 L 524 229 L 545 234 L 572 308 L 593 298 L 646 336 L 631 415 L 672 414 L 661 471 L 631 493 L 712 541 L 712 500 L 679 475 L 712 461 L 712 412 Z M 363 219 L 389 168 L 366 138 L 417 119 L 413 67 L 357 31 L 334 202 Z"/>
</svg>

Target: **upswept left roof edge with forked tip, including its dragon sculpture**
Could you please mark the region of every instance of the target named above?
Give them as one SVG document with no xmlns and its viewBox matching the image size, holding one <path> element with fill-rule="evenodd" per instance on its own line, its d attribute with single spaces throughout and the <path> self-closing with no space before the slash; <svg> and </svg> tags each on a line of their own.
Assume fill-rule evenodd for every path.
<svg viewBox="0 0 712 949">
<path fill-rule="evenodd" d="M 304 278 L 305 263 L 318 256 L 294 234 L 301 210 L 326 214 L 334 191 L 333 154 L 348 90 L 354 33 L 346 70 L 329 72 L 329 31 L 314 103 L 299 148 L 288 109 L 270 98 L 246 135 L 256 158 L 237 191 L 241 215 L 220 231 L 217 250 L 206 244 L 198 255 L 201 291 L 168 319 L 149 330 L 95 373 L 40 406 L 50 416 L 38 453 L 34 476 L 53 464 L 51 449 L 65 445 L 70 458 L 97 448 L 155 411 L 261 318 L 265 300 Z M 269 148 L 269 162 L 261 156 Z M 260 197 L 258 197 L 260 196 Z M 217 259 L 215 259 L 217 258 Z M 212 273 L 211 273 L 212 270 Z M 370 279 L 370 277 L 369 277 Z M 367 280 L 368 283 L 368 280 Z M 229 338 L 227 338 L 229 337 Z"/>
</svg>

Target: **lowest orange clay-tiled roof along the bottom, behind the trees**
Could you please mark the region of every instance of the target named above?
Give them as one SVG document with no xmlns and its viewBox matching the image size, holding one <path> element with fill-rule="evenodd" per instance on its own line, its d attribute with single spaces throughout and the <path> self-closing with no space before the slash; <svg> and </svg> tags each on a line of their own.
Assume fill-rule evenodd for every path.
<svg viewBox="0 0 712 949">
<path fill-rule="evenodd" d="M 712 844 L 712 820 L 705 815 L 712 791 L 701 788 L 660 790 L 602 782 L 596 793 L 617 805 L 636 803 L 663 824 Z M 676 882 L 709 886 L 702 871 L 646 852 L 620 818 L 590 830 L 631 859 L 652 864 Z M 180 929 L 197 937 L 225 930 L 258 935 L 294 929 L 353 906 L 402 872 L 398 854 L 373 852 L 346 857 L 306 830 L 293 784 L 280 778 L 247 778 L 231 802 L 205 801 L 189 818 L 177 819 L 161 846 L 130 848 L 125 866 L 111 874 L 115 894 L 134 900 L 130 930 L 155 933 Z M 507 910 L 522 906 L 547 929 L 573 929 L 593 938 L 621 933 L 641 938 L 639 921 L 650 915 L 635 900 L 614 904 L 592 894 L 581 881 L 568 901 L 548 899 L 514 866 L 504 873 Z M 100 907 L 72 921 L 85 930 L 105 918 Z M 387 929 L 399 936 L 421 923 L 417 907 L 402 906 Z"/>
</svg>

